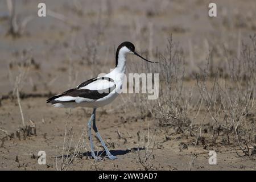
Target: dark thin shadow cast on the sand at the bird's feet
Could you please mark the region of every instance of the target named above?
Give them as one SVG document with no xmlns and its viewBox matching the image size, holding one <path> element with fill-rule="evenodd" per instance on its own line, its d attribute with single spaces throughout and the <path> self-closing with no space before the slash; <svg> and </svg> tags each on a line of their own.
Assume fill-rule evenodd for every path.
<svg viewBox="0 0 256 182">
<path fill-rule="evenodd" d="M 110 153 L 114 156 L 120 156 L 120 155 L 126 155 L 130 152 L 136 152 L 136 151 L 141 151 L 141 150 L 144 150 L 144 147 L 134 147 L 134 148 L 131 148 L 131 149 L 126 149 L 126 150 L 110 150 Z M 101 156 L 102 158 L 104 158 L 106 156 L 106 152 L 101 150 L 101 151 L 95 151 L 95 155 L 96 156 Z M 89 157 L 89 158 L 93 158 L 92 156 L 92 152 L 81 152 L 79 154 L 79 156 L 86 156 L 86 157 Z M 64 158 L 69 158 L 71 157 L 71 155 L 64 155 Z M 62 156 L 57 156 L 57 158 L 62 158 Z"/>
</svg>

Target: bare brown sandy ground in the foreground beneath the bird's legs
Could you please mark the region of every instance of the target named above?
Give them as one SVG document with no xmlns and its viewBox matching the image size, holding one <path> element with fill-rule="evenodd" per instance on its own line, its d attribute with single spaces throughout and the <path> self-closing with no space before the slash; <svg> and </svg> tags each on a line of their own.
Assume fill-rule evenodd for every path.
<svg viewBox="0 0 256 182">
<path fill-rule="evenodd" d="M 26 112 L 24 115 L 36 122 L 37 136 L 28 137 L 26 140 L 14 138 L 7 140 L 4 147 L 1 148 L 1 169 L 42 169 L 55 170 L 56 162 L 56 146 L 57 157 L 61 157 L 61 149 L 64 139 L 65 122 L 67 121 L 67 110 L 52 109 L 46 105 L 38 105 L 43 103 L 45 98 L 23 100 L 22 104 Z M 2 103 L 1 121 L 2 127 L 19 125 L 19 110 L 15 109 L 16 105 L 13 102 L 5 101 Z M 28 109 L 30 107 L 30 109 Z M 13 110 L 10 113 L 10 110 Z M 40 114 L 38 111 L 40 110 Z M 67 111 L 65 113 L 65 111 Z M 73 127 L 75 142 L 79 139 L 82 127 L 86 126 L 86 120 L 89 118 L 89 111 L 79 109 L 73 110 L 69 117 L 69 127 Z M 9 115 L 9 116 L 8 116 Z M 85 117 L 86 116 L 86 117 Z M 123 118 L 123 116 L 127 117 Z M 44 122 L 42 122 L 42 118 Z M 71 169 L 121 169 L 121 170 L 140 170 L 144 169 L 138 161 L 138 152 L 132 150 L 138 147 L 137 133 L 142 133 L 154 129 L 155 122 L 151 118 L 133 118 L 125 113 L 105 113 L 98 111 L 98 129 L 104 137 L 106 143 L 112 147 L 112 154 L 118 156 L 118 160 L 104 159 L 102 162 L 95 163 L 91 159 L 90 154 L 86 153 L 89 149 L 89 141 L 85 140 L 82 157 L 75 160 L 71 165 Z M 27 121 L 28 118 L 26 118 Z M 15 127 L 14 129 L 15 130 Z M 119 139 L 117 130 L 122 138 Z M 9 129 L 11 131 L 11 129 Z M 166 137 L 167 136 L 167 137 Z M 123 139 L 125 138 L 125 139 Z M 94 141 L 97 142 L 96 138 Z M 187 144 L 187 148 L 181 149 L 181 143 Z M 192 138 L 183 137 L 182 135 L 170 134 L 164 129 L 159 129 L 155 150 L 153 151 L 154 159 L 151 159 L 150 164 L 153 164 L 151 169 L 158 170 L 237 170 L 237 169 L 255 169 L 255 157 L 240 158 L 236 154 L 237 146 L 224 147 L 221 145 L 209 146 L 203 149 L 203 144 L 199 144 L 196 148 L 192 144 Z M 99 142 L 96 143 L 96 148 L 102 151 Z M 46 152 L 46 165 L 39 165 L 37 156 L 38 151 Z M 209 165 L 208 152 L 215 150 L 217 153 L 217 165 Z M 238 151 L 239 152 L 239 151 Z M 239 152 L 241 154 L 241 152 Z M 59 154 L 59 155 L 58 155 Z M 144 150 L 141 150 L 143 156 Z M 18 158 L 18 160 L 17 160 Z M 192 164 L 191 164 L 192 163 Z"/>
</svg>

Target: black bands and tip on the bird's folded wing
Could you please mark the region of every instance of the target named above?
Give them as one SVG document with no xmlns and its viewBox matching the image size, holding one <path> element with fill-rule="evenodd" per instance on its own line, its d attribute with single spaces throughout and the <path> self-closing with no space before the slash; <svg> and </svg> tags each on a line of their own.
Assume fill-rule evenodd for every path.
<svg viewBox="0 0 256 182">
<path fill-rule="evenodd" d="M 115 84 L 114 84 L 114 86 L 112 86 L 108 89 L 104 89 L 104 90 L 80 89 L 80 88 L 92 83 L 93 81 L 97 81 L 97 80 L 108 80 L 108 81 L 114 82 L 114 80 L 109 77 L 92 78 L 90 80 L 82 82 L 79 86 L 77 86 L 74 89 L 69 89 L 66 92 L 63 92 L 62 94 L 59 94 L 59 95 L 49 98 L 46 102 L 51 103 L 51 104 L 64 103 L 64 102 L 75 102 L 75 100 L 55 101 L 56 98 L 59 98 L 62 96 L 83 97 L 83 98 L 89 98 L 89 99 L 96 100 L 96 99 L 108 96 L 108 94 L 115 89 Z"/>
</svg>

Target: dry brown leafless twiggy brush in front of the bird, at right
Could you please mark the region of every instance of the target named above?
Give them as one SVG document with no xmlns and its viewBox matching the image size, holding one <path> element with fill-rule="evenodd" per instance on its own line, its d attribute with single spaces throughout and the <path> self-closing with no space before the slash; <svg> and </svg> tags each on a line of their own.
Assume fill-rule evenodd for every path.
<svg viewBox="0 0 256 182">
<path fill-rule="evenodd" d="M 160 56 L 160 97 L 149 105 L 160 126 L 194 137 L 195 146 L 237 144 L 250 155 L 255 142 L 256 35 L 250 39 L 250 45 L 242 46 L 240 59 L 225 51 L 226 69 L 213 71 L 210 51 L 200 72 L 188 77 L 184 56 L 171 36 L 166 55 Z"/>
</svg>

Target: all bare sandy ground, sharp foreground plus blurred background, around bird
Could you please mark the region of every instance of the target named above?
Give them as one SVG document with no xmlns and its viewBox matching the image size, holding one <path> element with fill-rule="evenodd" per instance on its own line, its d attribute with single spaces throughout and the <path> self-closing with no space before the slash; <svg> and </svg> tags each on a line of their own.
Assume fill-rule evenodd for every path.
<svg viewBox="0 0 256 182">
<path fill-rule="evenodd" d="M 62 20 L 47 16 L 36 16 L 40 1 L 18 1 L 18 22 L 29 15 L 35 16 L 28 23 L 19 38 L 7 35 L 9 20 L 6 2 L 0 2 L 0 95 L 13 92 L 18 65 L 33 59 L 20 83 L 20 92 L 39 94 L 21 100 L 26 125 L 35 123 L 36 135 L 23 139 L 16 137 L 22 126 L 19 105 L 14 98 L 3 99 L 0 105 L 0 129 L 14 138 L 2 139 L 0 147 L 0 169 L 55 170 L 56 156 L 62 154 L 65 123 L 69 110 L 56 109 L 46 104 L 42 94 L 60 93 L 78 85 L 97 73 L 109 72 L 114 67 L 114 50 L 119 43 L 134 42 L 138 52 L 146 50 L 154 53 L 164 51 L 168 35 L 172 32 L 175 42 L 184 48 L 185 57 L 192 71 L 204 63 L 208 47 L 216 46 L 216 65 L 221 64 L 221 46 L 233 49 L 234 55 L 240 48 L 239 42 L 249 41 L 249 35 L 256 30 L 256 3 L 251 1 L 216 1 L 218 17 L 209 18 L 209 1 L 45 1 L 47 8 L 65 16 Z M 82 8 L 81 8 L 82 7 Z M 193 45 L 193 51 L 189 50 Z M 203 50 L 203 51 L 202 51 Z M 237 55 L 239 56 L 239 55 Z M 129 64 L 137 59 L 129 57 Z M 219 62 L 218 62 L 219 61 Z M 101 64 L 100 66 L 97 64 Z M 127 69 L 131 68 L 127 65 Z M 146 65 L 142 62 L 136 63 Z M 190 70 L 190 71 L 191 71 Z M 95 162 L 90 158 L 89 140 L 86 137 L 81 156 L 69 169 L 145 169 L 139 162 L 138 131 L 152 137 L 157 119 L 141 116 L 136 107 L 121 109 L 122 97 L 112 105 L 97 110 L 98 129 L 112 153 L 118 160 L 104 159 Z M 77 142 L 82 129 L 90 117 L 91 109 L 73 109 L 68 119 L 68 129 L 72 127 L 73 141 Z M 150 132 L 149 132 L 150 131 Z M 0 137 L 5 132 L 0 131 Z M 85 131 L 86 134 L 86 131 Z M 102 151 L 94 138 L 96 150 Z M 159 170 L 255 170 L 255 155 L 240 157 L 237 146 L 205 144 L 195 139 L 175 134 L 166 127 L 156 130 L 155 148 L 148 166 Z M 208 152 L 217 153 L 217 164 L 208 163 Z M 37 154 L 46 152 L 46 165 L 38 164 Z M 149 148 L 146 151 L 151 151 Z M 145 150 L 140 151 L 144 155 Z M 154 156 L 153 156 L 154 155 Z"/>
</svg>

